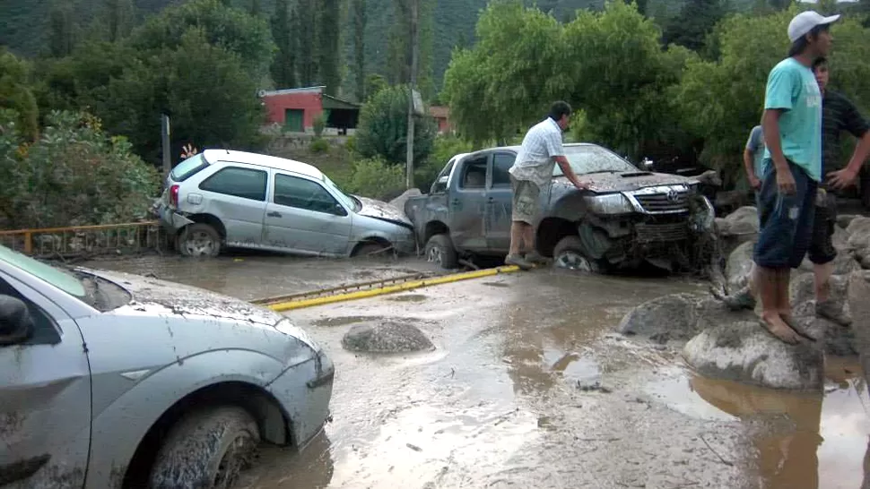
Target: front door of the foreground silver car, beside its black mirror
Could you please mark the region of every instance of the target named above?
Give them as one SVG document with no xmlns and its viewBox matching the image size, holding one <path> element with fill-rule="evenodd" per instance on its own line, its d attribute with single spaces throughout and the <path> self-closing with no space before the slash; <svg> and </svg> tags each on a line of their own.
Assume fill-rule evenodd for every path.
<svg viewBox="0 0 870 489">
<path fill-rule="evenodd" d="M 0 343 L 0 486 L 81 488 L 91 450 L 91 369 L 82 332 L 46 296 L 0 272 L 27 305 L 30 339 Z"/>
</svg>

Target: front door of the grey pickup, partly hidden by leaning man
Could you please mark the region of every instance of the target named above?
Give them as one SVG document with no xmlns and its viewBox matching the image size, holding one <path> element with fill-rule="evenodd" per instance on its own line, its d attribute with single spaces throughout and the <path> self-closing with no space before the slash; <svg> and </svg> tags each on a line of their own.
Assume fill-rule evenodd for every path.
<svg viewBox="0 0 870 489">
<path fill-rule="evenodd" d="M 510 210 L 513 191 L 508 170 L 517 154 L 499 151 L 492 155 L 486 190 L 486 244 L 492 252 L 508 253 L 510 248 Z"/>
</svg>

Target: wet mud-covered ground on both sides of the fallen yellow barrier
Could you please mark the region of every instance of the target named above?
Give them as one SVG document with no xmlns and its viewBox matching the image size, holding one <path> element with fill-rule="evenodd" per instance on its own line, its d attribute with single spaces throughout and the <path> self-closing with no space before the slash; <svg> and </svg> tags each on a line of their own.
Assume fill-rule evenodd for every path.
<svg viewBox="0 0 870 489">
<path fill-rule="evenodd" d="M 91 266 L 250 299 L 432 270 L 424 262 L 260 256 Z M 610 333 L 686 279 L 535 270 L 288 315 L 336 365 L 334 422 L 301 454 L 267 449 L 243 487 L 858 488 L 870 422 L 857 365 L 825 395 L 692 376 L 679 351 Z M 346 352 L 352 324 L 411 322 L 432 353 Z"/>
</svg>

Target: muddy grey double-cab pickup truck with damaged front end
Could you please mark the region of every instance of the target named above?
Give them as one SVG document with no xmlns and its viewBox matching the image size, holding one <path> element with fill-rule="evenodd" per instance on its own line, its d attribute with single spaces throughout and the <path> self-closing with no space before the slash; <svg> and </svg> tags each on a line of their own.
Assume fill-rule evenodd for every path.
<svg viewBox="0 0 870 489">
<path fill-rule="evenodd" d="M 428 195 L 405 202 L 428 261 L 453 269 L 462 257 L 508 253 L 508 170 L 518 150 L 459 154 Z M 575 270 L 605 272 L 643 262 L 667 270 L 690 266 L 692 250 L 709 236 L 714 218 L 697 180 L 640 170 L 596 144 L 566 144 L 565 151 L 589 189 L 579 191 L 554 167 L 535 222 L 538 253 Z"/>
</svg>

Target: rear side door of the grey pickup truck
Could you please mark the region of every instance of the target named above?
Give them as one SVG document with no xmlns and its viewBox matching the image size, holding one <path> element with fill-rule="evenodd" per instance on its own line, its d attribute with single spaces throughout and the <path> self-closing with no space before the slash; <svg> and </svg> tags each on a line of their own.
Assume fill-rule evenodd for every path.
<svg viewBox="0 0 870 489">
<path fill-rule="evenodd" d="M 450 237 L 459 251 L 485 251 L 486 166 L 489 155 L 465 159 L 454 172 L 448 215 Z"/>
</svg>

